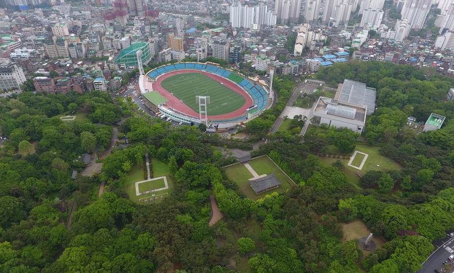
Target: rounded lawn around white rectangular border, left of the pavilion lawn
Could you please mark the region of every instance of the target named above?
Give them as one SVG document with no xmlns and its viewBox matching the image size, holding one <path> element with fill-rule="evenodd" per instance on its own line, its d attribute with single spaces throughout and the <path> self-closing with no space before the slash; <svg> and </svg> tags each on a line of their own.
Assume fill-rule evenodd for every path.
<svg viewBox="0 0 454 273">
<path fill-rule="evenodd" d="M 150 196 L 153 196 L 153 194 L 154 195 L 170 194 L 173 191 L 173 181 L 174 180 L 173 180 L 173 176 L 170 174 L 169 166 L 166 163 L 164 163 L 160 160 L 157 160 L 157 159 L 151 159 L 151 164 L 153 165 L 153 177 L 152 178 L 160 177 L 160 176 L 167 176 L 167 183 L 169 184 L 169 189 L 136 196 L 135 182 L 146 179 L 144 177 L 145 176 L 144 167 L 142 165 L 136 164 L 136 165 L 134 165 L 134 167 L 132 167 L 131 171 L 129 171 L 127 179 L 126 179 L 126 183 L 123 186 L 129 199 L 134 203 L 143 204 L 143 203 L 139 202 L 139 198 L 150 197 Z M 162 181 L 162 184 L 161 184 L 161 181 Z M 163 179 L 160 179 L 157 181 L 152 181 L 152 182 L 153 183 L 147 182 L 147 183 L 139 184 L 139 191 L 142 191 L 141 185 L 143 185 L 142 187 L 151 187 L 149 189 L 143 189 L 143 191 L 164 187 Z M 158 184 L 155 184 L 155 182 Z M 164 195 L 164 196 L 166 196 L 166 195 Z"/>
</svg>

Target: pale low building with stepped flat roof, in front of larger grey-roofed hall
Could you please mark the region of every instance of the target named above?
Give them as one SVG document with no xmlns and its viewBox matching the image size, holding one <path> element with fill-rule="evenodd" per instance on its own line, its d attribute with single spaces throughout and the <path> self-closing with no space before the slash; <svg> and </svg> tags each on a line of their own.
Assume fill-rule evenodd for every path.
<svg viewBox="0 0 454 273">
<path fill-rule="evenodd" d="M 366 106 L 320 97 L 313 114 L 320 118 L 320 124 L 362 133 L 366 124 L 366 111 Z"/>
</svg>

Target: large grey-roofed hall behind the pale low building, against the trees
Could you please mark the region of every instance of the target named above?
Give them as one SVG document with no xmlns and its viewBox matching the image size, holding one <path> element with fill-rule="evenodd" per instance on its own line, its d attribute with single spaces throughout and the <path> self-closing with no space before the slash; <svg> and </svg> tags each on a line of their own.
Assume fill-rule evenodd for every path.
<svg viewBox="0 0 454 273">
<path fill-rule="evenodd" d="M 345 79 L 343 84 L 339 84 L 334 98 L 340 102 L 367 106 L 367 115 L 375 111 L 376 90 L 362 82 Z"/>
</svg>

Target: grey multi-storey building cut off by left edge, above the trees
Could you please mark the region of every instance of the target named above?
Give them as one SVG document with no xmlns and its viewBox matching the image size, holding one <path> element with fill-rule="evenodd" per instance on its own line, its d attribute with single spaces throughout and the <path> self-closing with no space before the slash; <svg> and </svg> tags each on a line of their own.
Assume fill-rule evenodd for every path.
<svg viewBox="0 0 454 273">
<path fill-rule="evenodd" d="M 20 85 L 26 81 L 22 68 L 9 59 L 0 59 L 0 90 L 9 91 L 20 89 Z"/>
</svg>

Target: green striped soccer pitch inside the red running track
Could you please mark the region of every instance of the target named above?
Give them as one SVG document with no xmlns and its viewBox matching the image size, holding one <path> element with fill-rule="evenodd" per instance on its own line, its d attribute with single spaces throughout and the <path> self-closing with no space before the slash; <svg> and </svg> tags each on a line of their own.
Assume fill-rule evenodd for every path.
<svg viewBox="0 0 454 273">
<path fill-rule="evenodd" d="M 240 94 L 200 73 L 173 75 L 163 80 L 161 86 L 196 112 L 199 112 L 199 104 L 195 96 L 210 96 L 208 115 L 226 114 L 246 103 Z"/>
</svg>

